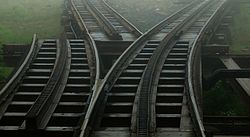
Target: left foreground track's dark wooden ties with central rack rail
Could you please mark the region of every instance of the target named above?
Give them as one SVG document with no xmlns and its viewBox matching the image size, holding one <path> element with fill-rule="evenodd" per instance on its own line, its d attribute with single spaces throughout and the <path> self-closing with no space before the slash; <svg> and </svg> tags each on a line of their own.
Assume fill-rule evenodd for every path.
<svg viewBox="0 0 250 137">
<path fill-rule="evenodd" d="M 77 135 L 99 77 L 89 44 L 82 39 L 67 40 L 67 46 L 58 40 L 38 44 L 27 68 L 1 91 L 0 135 Z"/>
</svg>

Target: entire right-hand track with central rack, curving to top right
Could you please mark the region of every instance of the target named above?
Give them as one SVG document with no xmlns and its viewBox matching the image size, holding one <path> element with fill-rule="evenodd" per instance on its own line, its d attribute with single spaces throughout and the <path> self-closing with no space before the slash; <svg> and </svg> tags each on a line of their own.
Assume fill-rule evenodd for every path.
<svg viewBox="0 0 250 137">
<path fill-rule="evenodd" d="M 186 68 L 224 4 L 194 1 L 137 39 L 94 92 L 81 136 L 205 136 Z"/>
</svg>

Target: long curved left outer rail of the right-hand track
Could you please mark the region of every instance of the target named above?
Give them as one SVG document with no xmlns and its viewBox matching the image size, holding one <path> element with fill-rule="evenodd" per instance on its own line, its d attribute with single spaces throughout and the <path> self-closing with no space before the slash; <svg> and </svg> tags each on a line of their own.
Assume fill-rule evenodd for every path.
<svg viewBox="0 0 250 137">
<path fill-rule="evenodd" d="M 94 111 L 96 110 L 96 107 L 100 105 L 100 102 L 102 100 L 101 97 L 105 94 L 105 92 L 109 90 L 110 86 L 113 84 L 111 83 L 111 81 L 114 82 L 116 79 L 115 76 L 118 76 L 121 73 L 121 70 L 119 68 L 123 64 L 125 64 L 125 62 L 128 62 L 128 60 L 131 60 L 132 59 L 131 57 L 133 57 L 138 50 L 143 48 L 140 45 L 143 45 L 142 43 L 144 43 L 151 35 L 155 34 L 160 28 L 164 27 L 165 24 L 169 24 L 170 22 L 178 18 L 182 13 L 185 13 L 189 8 L 191 8 L 191 6 L 194 3 L 195 2 L 190 3 L 189 5 L 175 12 L 174 14 L 167 17 L 166 19 L 155 25 L 153 28 L 148 30 L 146 33 L 140 36 L 136 41 L 134 41 L 116 60 L 116 62 L 111 67 L 105 78 L 100 83 L 98 89 L 93 93 L 93 97 L 90 102 L 90 108 L 86 113 L 80 137 L 84 137 L 87 134 L 89 134 L 89 124 L 93 121 L 93 117 L 95 117 L 94 115 L 96 115 Z"/>
</svg>

